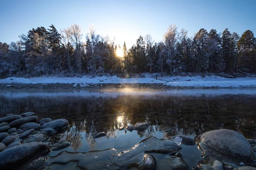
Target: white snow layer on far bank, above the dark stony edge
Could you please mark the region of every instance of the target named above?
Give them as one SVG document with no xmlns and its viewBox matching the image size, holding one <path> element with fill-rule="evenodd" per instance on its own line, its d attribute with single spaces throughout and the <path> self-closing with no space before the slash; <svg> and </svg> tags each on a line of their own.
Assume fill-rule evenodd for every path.
<svg viewBox="0 0 256 170">
<path fill-rule="evenodd" d="M 119 78 L 113 77 L 34 77 L 34 78 L 16 78 L 9 77 L 6 79 L 0 79 L 0 83 L 23 83 L 23 84 L 48 84 L 48 83 L 74 83 L 74 87 L 79 83 L 81 87 L 86 87 L 89 84 L 103 84 L 103 83 L 131 83 L 131 84 L 143 84 L 143 83 L 163 83 L 166 86 L 171 87 L 215 87 L 215 88 L 240 88 L 240 87 L 256 87 L 256 78 L 244 77 L 229 79 L 218 76 L 195 76 L 195 77 L 149 77 L 144 75 L 142 78 Z"/>
</svg>

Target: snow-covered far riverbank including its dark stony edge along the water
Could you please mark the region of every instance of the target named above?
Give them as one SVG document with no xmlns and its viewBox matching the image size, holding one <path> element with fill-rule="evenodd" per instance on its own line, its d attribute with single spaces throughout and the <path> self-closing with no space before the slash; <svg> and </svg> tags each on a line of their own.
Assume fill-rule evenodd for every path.
<svg viewBox="0 0 256 170">
<path fill-rule="evenodd" d="M 33 77 L 0 79 L 0 88 L 256 88 L 256 78 L 229 79 L 218 76 L 195 77 Z"/>
</svg>

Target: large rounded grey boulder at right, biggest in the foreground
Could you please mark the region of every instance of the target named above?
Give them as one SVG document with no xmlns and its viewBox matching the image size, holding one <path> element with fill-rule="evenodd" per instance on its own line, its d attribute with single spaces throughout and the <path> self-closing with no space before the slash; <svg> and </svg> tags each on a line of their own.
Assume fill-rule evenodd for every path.
<svg viewBox="0 0 256 170">
<path fill-rule="evenodd" d="M 233 161 L 251 162 L 255 159 L 253 149 L 243 135 L 233 130 L 211 130 L 195 137 L 202 150 L 208 150 L 213 158 L 220 153 L 233 158 Z M 214 150 L 214 152 L 209 151 Z M 215 154 L 215 155 L 214 155 Z"/>
</svg>

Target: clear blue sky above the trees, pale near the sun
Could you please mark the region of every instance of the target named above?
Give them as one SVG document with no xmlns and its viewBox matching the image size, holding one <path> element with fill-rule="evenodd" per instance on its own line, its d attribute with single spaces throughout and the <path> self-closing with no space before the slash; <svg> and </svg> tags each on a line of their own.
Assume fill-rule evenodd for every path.
<svg viewBox="0 0 256 170">
<path fill-rule="evenodd" d="M 163 40 L 171 24 L 188 30 L 189 37 L 200 28 L 256 34 L 256 0 L 3 0 L 0 42 L 17 41 L 32 28 L 53 24 L 59 31 L 74 23 L 84 35 L 93 24 L 97 34 L 128 47 L 140 35 Z"/>
</svg>

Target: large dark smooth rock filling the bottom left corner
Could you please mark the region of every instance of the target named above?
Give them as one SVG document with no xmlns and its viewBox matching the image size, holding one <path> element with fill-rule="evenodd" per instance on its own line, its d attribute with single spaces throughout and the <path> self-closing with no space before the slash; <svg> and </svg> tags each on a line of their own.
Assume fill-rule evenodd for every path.
<svg viewBox="0 0 256 170">
<path fill-rule="evenodd" d="M 50 149 L 45 143 L 31 142 L 19 144 L 0 152 L 0 169 L 9 170 L 18 167 L 35 156 L 49 153 Z"/>
</svg>

